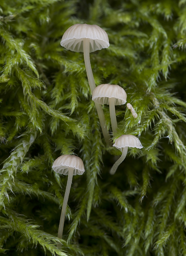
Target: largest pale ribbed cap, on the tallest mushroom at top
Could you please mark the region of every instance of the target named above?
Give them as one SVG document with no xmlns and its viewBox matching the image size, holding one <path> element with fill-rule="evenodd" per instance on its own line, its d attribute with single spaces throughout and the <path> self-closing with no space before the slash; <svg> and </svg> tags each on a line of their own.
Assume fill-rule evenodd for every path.
<svg viewBox="0 0 186 256">
<path fill-rule="evenodd" d="M 83 52 L 83 40 L 90 39 L 90 52 L 109 47 L 108 35 L 97 25 L 75 24 L 62 36 L 61 46 L 73 52 Z"/>
</svg>

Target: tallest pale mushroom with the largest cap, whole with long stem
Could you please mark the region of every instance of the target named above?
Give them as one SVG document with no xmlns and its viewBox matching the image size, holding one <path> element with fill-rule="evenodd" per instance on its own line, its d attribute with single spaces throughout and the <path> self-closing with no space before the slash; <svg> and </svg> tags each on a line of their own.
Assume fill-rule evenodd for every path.
<svg viewBox="0 0 186 256">
<path fill-rule="evenodd" d="M 61 46 L 73 52 L 83 52 L 85 68 L 91 92 L 96 88 L 92 68 L 90 65 L 90 52 L 109 47 L 108 35 L 97 25 L 75 24 L 68 28 L 61 39 Z M 103 136 L 109 144 L 110 136 L 105 124 L 105 116 L 100 104 L 95 103 Z"/>
</svg>

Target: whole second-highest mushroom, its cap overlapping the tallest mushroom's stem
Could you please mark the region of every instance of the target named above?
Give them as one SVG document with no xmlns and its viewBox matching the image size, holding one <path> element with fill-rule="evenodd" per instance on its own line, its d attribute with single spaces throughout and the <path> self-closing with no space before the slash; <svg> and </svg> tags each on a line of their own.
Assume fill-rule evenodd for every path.
<svg viewBox="0 0 186 256">
<path fill-rule="evenodd" d="M 117 84 L 100 84 L 94 89 L 92 100 L 100 104 L 109 105 L 112 132 L 116 133 L 118 126 L 115 105 L 122 105 L 127 102 L 127 93 L 125 90 Z"/>
</svg>

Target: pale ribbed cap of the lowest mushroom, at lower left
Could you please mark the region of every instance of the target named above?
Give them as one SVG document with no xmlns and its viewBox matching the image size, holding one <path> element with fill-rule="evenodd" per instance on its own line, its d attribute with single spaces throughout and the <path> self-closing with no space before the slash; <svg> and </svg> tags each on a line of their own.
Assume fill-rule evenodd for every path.
<svg viewBox="0 0 186 256">
<path fill-rule="evenodd" d="M 73 175 L 82 175 L 85 171 L 81 158 L 74 155 L 59 156 L 52 165 L 54 172 L 64 175 L 68 175 L 69 168 L 74 168 Z"/>
</svg>

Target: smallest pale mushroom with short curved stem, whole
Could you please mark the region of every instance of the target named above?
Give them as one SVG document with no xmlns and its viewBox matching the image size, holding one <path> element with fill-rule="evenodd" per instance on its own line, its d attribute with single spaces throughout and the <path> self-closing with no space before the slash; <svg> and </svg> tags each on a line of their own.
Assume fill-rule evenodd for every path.
<svg viewBox="0 0 186 256">
<path fill-rule="evenodd" d="M 118 139 L 115 140 L 113 147 L 116 147 L 122 152 L 120 158 L 115 162 L 110 170 L 110 174 L 114 174 L 118 166 L 123 162 L 127 155 L 128 147 L 131 148 L 143 148 L 140 140 L 134 135 L 121 135 Z"/>
</svg>

